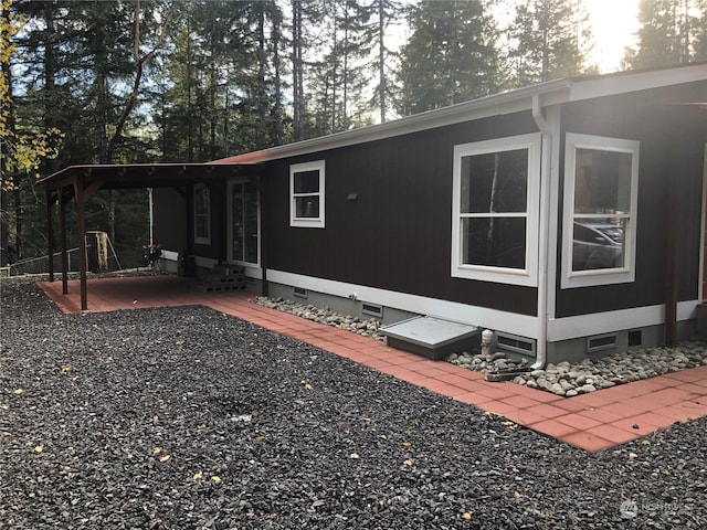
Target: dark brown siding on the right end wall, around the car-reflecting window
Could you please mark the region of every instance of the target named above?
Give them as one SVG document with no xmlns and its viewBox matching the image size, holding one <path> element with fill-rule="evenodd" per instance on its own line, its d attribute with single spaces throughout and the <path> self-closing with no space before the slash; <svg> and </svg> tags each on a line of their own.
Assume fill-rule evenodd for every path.
<svg viewBox="0 0 707 530">
<path fill-rule="evenodd" d="M 674 237 L 677 250 L 677 299 L 696 298 L 707 124 L 704 113 L 695 108 L 664 103 L 699 100 L 707 100 L 707 83 L 639 92 L 563 107 L 562 138 L 566 132 L 580 132 L 640 140 L 641 157 L 635 282 L 562 289 L 558 274 L 557 317 L 664 304 L 668 284 L 669 237 Z M 563 165 L 562 151 L 560 187 Z M 562 193 L 560 189 L 560 198 Z M 560 203 L 560 230 L 561 206 Z M 562 242 L 559 240 L 558 271 L 561 271 L 562 252 Z"/>
</svg>

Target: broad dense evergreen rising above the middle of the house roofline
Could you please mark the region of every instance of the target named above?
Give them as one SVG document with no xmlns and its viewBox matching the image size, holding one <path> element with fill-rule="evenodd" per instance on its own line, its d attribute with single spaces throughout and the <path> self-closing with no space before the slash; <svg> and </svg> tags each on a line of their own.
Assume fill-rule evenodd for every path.
<svg viewBox="0 0 707 530">
<path fill-rule="evenodd" d="M 482 0 L 423 1 L 409 14 L 412 31 L 398 76 L 402 115 L 496 92 L 496 26 Z"/>
</svg>

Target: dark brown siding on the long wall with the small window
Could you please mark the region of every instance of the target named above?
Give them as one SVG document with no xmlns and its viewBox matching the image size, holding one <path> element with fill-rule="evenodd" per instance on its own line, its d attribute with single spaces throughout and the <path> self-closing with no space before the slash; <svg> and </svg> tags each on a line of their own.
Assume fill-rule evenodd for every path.
<svg viewBox="0 0 707 530">
<path fill-rule="evenodd" d="M 535 131 L 519 113 L 272 162 L 268 268 L 535 315 L 536 288 L 450 272 L 454 146 Z M 320 159 L 326 227 L 291 227 L 289 166 Z"/>
</svg>

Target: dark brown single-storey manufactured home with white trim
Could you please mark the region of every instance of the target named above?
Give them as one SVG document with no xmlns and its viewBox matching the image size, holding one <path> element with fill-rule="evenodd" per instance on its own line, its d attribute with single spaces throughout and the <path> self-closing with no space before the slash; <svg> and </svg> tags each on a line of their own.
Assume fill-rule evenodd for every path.
<svg viewBox="0 0 707 530">
<path fill-rule="evenodd" d="M 706 146 L 706 64 L 555 81 L 217 160 L 238 176 L 155 190 L 155 241 L 536 365 L 600 357 L 694 335 Z"/>
</svg>

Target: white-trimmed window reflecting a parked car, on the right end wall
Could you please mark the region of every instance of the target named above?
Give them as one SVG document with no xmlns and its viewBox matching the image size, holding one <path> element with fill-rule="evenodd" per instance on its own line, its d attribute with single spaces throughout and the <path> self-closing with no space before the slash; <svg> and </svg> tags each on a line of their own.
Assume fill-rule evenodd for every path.
<svg viewBox="0 0 707 530">
<path fill-rule="evenodd" d="M 567 134 L 562 288 L 635 279 L 639 147 Z"/>
</svg>

